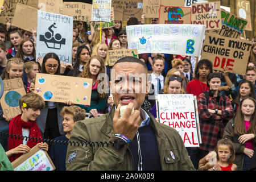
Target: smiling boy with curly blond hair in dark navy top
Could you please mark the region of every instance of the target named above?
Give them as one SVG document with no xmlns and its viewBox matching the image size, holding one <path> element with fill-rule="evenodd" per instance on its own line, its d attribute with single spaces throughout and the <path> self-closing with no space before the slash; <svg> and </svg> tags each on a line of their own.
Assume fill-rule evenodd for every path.
<svg viewBox="0 0 256 182">
<path fill-rule="evenodd" d="M 60 112 L 63 117 L 62 125 L 65 135 L 55 138 L 55 140 L 68 141 L 71 131 L 77 121 L 85 119 L 85 110 L 79 106 L 64 106 Z M 65 159 L 68 146 L 66 144 L 52 144 L 49 156 L 52 159 L 56 171 L 66 171 Z"/>
</svg>

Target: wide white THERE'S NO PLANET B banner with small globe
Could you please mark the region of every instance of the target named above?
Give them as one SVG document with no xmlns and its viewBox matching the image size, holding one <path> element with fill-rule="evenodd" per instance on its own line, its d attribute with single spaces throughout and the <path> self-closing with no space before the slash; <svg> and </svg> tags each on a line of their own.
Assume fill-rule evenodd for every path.
<svg viewBox="0 0 256 182">
<path fill-rule="evenodd" d="M 205 26 L 201 24 L 139 24 L 126 26 L 129 49 L 138 53 L 200 56 Z"/>
</svg>

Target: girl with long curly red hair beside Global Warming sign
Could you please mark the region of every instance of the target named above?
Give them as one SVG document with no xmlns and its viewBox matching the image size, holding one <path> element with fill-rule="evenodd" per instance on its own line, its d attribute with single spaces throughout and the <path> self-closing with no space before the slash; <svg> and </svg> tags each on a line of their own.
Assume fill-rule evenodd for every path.
<svg viewBox="0 0 256 182">
<path fill-rule="evenodd" d="M 103 113 L 106 102 L 107 93 L 106 89 L 106 77 L 105 77 L 105 63 L 102 57 L 92 56 L 86 63 L 84 70 L 80 73 L 79 77 L 91 78 L 92 81 L 92 95 L 90 98 L 90 106 L 88 105 L 77 105 L 82 109 L 85 109 L 86 113 L 90 113 L 93 117 L 98 117 L 98 113 Z M 103 84 L 101 84 L 101 82 Z M 102 86 L 101 86 L 102 85 Z"/>
</svg>

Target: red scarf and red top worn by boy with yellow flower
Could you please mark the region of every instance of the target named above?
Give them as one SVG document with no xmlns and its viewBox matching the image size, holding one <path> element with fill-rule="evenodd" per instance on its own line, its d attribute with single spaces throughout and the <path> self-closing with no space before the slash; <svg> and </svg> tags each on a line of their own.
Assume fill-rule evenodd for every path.
<svg viewBox="0 0 256 182">
<path fill-rule="evenodd" d="M 15 135 L 22 135 L 22 128 L 24 129 L 29 129 L 30 134 L 28 137 L 34 137 L 34 138 L 43 138 L 41 131 L 39 130 L 38 125 L 36 125 L 36 120 L 35 121 L 28 121 L 25 122 L 21 119 L 21 115 L 17 115 L 15 118 L 11 119 L 9 123 L 9 134 L 15 134 Z M 36 146 L 36 143 L 39 143 L 40 141 L 36 142 L 36 140 L 27 140 L 27 146 L 32 148 Z M 22 138 L 16 138 L 9 137 L 8 140 L 8 150 L 11 150 L 15 147 L 18 147 L 20 144 L 23 144 Z M 10 162 L 13 162 L 15 159 L 19 158 L 22 153 L 20 154 L 15 154 L 9 157 Z"/>
</svg>

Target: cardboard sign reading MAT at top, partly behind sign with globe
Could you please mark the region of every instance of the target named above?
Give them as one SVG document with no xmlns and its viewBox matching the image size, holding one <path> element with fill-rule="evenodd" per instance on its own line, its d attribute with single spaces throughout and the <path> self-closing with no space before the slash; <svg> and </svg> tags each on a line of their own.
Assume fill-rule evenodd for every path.
<svg viewBox="0 0 256 182">
<path fill-rule="evenodd" d="M 159 16 L 160 5 L 163 6 L 184 6 L 184 0 L 143 0 L 143 13 L 146 18 Z"/>
</svg>

